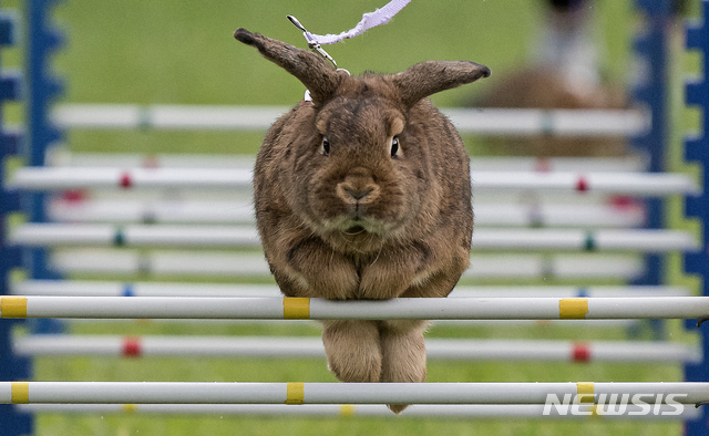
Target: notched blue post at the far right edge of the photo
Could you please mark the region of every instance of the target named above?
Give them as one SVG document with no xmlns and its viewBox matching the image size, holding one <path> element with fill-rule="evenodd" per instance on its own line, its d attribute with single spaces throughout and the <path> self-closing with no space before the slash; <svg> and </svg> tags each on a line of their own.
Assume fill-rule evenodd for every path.
<svg viewBox="0 0 709 436">
<path fill-rule="evenodd" d="M 685 141 L 685 158 L 698 163 L 703 170 L 700 197 L 688 197 L 686 212 L 688 217 L 695 217 L 701 222 L 703 250 L 685 255 L 685 270 L 697 274 L 702 281 L 702 294 L 709 295 L 709 81 L 707 80 L 707 56 L 709 56 L 709 27 L 706 14 L 709 10 L 709 1 L 703 0 L 702 21 L 697 25 L 687 28 L 687 49 L 703 53 L 703 77 L 687 84 L 687 105 L 699 107 L 702 112 L 702 131 L 699 136 Z M 693 328 L 693 326 L 692 326 Z M 705 326 L 706 329 L 706 326 Z M 706 330 L 705 330 L 706 332 Z M 700 333 L 701 334 L 701 333 Z M 688 382 L 709 381 L 709 333 L 701 334 L 703 361 L 695 365 L 685 366 L 685 380 Z M 701 417 L 686 424 L 687 435 L 709 434 L 709 405 L 701 406 Z"/>
</svg>

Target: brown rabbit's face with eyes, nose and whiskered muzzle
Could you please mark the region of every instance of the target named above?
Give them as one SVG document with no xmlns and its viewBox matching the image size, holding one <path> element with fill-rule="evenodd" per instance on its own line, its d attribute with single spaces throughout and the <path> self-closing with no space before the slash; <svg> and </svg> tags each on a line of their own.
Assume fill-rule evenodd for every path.
<svg viewBox="0 0 709 436">
<path fill-rule="evenodd" d="M 300 187 L 316 232 L 370 251 L 404 231 L 427 179 L 405 125 L 379 95 L 338 96 L 319 111 L 308 143 L 315 168 Z"/>
</svg>

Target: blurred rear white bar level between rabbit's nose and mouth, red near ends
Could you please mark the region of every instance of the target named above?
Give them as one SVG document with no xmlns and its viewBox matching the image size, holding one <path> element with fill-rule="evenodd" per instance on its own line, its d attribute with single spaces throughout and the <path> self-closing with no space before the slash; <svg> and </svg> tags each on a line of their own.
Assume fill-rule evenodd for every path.
<svg viewBox="0 0 709 436">
<path fill-rule="evenodd" d="M 251 224 L 250 201 L 188 199 L 55 198 L 47 208 L 51 221 Z M 475 226 L 483 227 L 640 227 L 639 205 L 475 204 Z"/>
</svg>

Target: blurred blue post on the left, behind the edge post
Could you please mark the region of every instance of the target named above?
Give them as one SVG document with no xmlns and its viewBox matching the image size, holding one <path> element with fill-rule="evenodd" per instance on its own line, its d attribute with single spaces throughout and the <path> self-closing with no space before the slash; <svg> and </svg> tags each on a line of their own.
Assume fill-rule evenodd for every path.
<svg viewBox="0 0 709 436">
<path fill-rule="evenodd" d="M 58 0 L 28 0 L 27 15 L 27 165 L 43 166 L 47 149 L 59 142 L 61 132 L 49 121 L 50 105 L 62 93 L 61 82 L 51 74 L 51 55 L 62 43 L 61 33 L 51 27 L 52 8 Z M 28 220 L 47 221 L 44 207 L 47 194 L 28 193 L 22 204 Z M 48 250 L 28 248 L 23 253 L 24 266 L 32 279 L 58 279 L 48 268 Z M 35 333 L 60 333 L 61 323 L 53 320 L 38 320 L 33 323 Z"/>
</svg>

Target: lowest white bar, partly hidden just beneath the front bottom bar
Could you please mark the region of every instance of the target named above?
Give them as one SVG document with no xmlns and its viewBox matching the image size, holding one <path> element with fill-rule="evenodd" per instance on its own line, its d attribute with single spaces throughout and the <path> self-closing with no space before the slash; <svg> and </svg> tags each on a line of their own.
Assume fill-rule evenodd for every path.
<svg viewBox="0 0 709 436">
<path fill-rule="evenodd" d="M 545 412 L 542 404 L 414 404 L 394 416 L 384 405 L 376 404 L 18 404 L 22 413 L 123 414 L 123 415 L 215 415 L 299 417 L 389 417 L 389 418 L 569 418 L 569 419 L 695 419 L 701 409 L 693 406 L 628 404 L 627 407 L 604 408 L 577 405 L 563 414 L 556 407 Z M 610 411 L 613 413 L 605 413 Z"/>
</svg>

